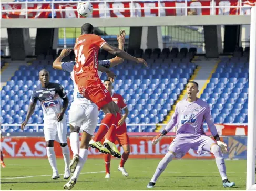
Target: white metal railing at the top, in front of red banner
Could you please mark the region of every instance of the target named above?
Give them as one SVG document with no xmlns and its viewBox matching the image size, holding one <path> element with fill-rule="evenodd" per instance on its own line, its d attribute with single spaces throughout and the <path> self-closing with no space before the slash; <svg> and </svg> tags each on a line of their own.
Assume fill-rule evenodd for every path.
<svg viewBox="0 0 256 191">
<path fill-rule="evenodd" d="M 234 0 L 230 0 L 232 2 L 237 2 L 237 1 L 234 1 Z M 1 9 L 0 9 L 0 18 L 2 18 L 2 13 L 8 13 L 8 12 L 21 12 L 21 16 L 24 16 L 25 15 L 25 18 L 28 18 L 28 12 L 50 12 L 52 13 L 52 19 L 55 18 L 54 14 L 56 12 L 70 12 L 70 11 L 74 11 L 74 12 L 77 12 L 77 9 L 74 9 L 74 8 L 68 8 L 68 9 L 55 9 L 54 8 L 54 5 L 55 4 L 61 4 L 61 3 L 65 3 L 65 4 L 76 4 L 80 1 L 52 1 L 52 2 L 3 2 L 1 1 L 0 2 L 0 6 L 1 6 Z M 237 10 L 237 13 L 235 15 L 238 15 L 238 10 L 239 10 L 239 15 L 243 15 L 244 13 L 242 12 L 242 8 L 251 8 L 253 7 L 252 3 L 251 5 L 242 5 L 243 1 L 242 0 L 239 0 L 238 2 L 238 5 L 236 6 L 216 6 L 216 2 L 214 0 L 211 0 L 211 1 L 208 1 L 210 2 L 210 5 L 209 6 L 188 6 L 188 0 L 185 0 L 183 2 L 175 2 L 178 6 L 162 6 L 163 3 L 167 2 L 167 1 L 162 1 L 162 0 L 157 0 L 157 1 L 147 1 L 147 0 L 137 0 L 137 1 L 134 1 L 134 0 L 120 0 L 120 1 L 116 1 L 116 0 L 96 0 L 96 1 L 88 1 L 88 2 L 91 2 L 91 3 L 99 3 L 101 6 L 100 8 L 94 8 L 94 11 L 99 11 L 100 14 L 103 14 L 104 16 L 100 16 L 100 18 L 107 18 L 107 13 L 109 13 L 110 10 L 114 10 L 114 11 L 121 11 L 121 12 L 124 12 L 125 10 L 130 10 L 130 17 L 137 17 L 138 15 L 135 15 L 135 11 L 136 10 L 158 10 L 158 17 L 160 16 L 165 16 L 162 14 L 162 10 L 165 11 L 166 9 L 176 9 L 176 10 L 181 10 L 181 9 L 184 9 L 185 10 L 185 16 L 188 15 L 188 9 L 191 9 L 191 10 L 197 10 L 197 9 L 210 9 L 210 15 L 215 15 L 215 10 L 220 8 L 222 10 L 224 9 L 230 9 L 230 8 L 235 8 Z M 125 7 L 122 7 L 122 8 L 109 8 L 109 3 L 129 3 L 129 7 L 125 8 Z M 157 7 L 136 7 L 135 6 L 135 3 L 157 3 Z M 202 1 L 204 2 L 204 1 Z M 185 6 L 182 6 L 181 3 L 185 3 Z M 193 2 L 191 2 L 193 3 Z M 196 2 L 194 2 L 196 3 Z M 223 2 L 224 3 L 224 2 Z M 24 8 L 22 9 L 3 9 L 3 5 L 5 4 L 22 4 L 22 5 L 25 5 L 22 6 Z M 30 9 L 32 8 L 30 5 L 34 5 L 34 4 L 49 4 L 51 9 Z M 255 5 L 255 2 L 254 2 L 254 5 Z M 121 9 L 121 10 L 120 10 Z M 224 12 L 224 11 L 223 11 Z M 77 16 L 78 18 L 80 18 L 80 15 L 78 14 Z M 47 17 L 48 18 L 48 17 Z"/>
</svg>

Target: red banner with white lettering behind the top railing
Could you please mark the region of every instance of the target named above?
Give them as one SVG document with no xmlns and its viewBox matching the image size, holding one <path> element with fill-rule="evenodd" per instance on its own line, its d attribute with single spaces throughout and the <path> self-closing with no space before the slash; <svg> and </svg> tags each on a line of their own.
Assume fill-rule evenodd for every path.
<svg viewBox="0 0 256 191">
<path fill-rule="evenodd" d="M 110 17 L 155 17 L 159 16 L 180 16 L 185 15 L 250 15 L 250 6 L 256 5 L 256 0 L 214 0 L 212 1 L 188 1 L 187 5 L 185 1 L 161 1 L 156 2 L 104 2 L 92 3 L 94 10 L 93 18 L 110 18 Z M 132 6 L 133 4 L 133 6 Z M 106 7 L 105 7 L 106 6 Z M 220 6 L 214 8 L 214 6 Z M 223 7 L 224 6 L 224 7 Z M 234 8 L 230 6 L 241 6 L 240 8 Z M 160 10 L 158 10 L 158 7 Z M 186 8 L 187 7 L 187 8 Z M 208 7 L 208 8 L 203 8 Z M 77 3 L 54 3 L 54 15 L 55 18 L 77 18 Z M 21 10 L 22 11 L 19 11 Z M 50 18 L 50 11 L 43 12 L 42 9 L 51 9 L 51 3 L 27 3 L 26 4 L 8 4 L 2 3 L 2 18 Z M 61 10 L 56 10 L 61 9 Z M 12 12 L 4 12 L 4 10 L 13 10 Z M 17 11 L 18 10 L 18 11 Z M 32 10 L 38 10 L 34 12 Z M 213 13 L 212 13 L 213 12 Z"/>
</svg>

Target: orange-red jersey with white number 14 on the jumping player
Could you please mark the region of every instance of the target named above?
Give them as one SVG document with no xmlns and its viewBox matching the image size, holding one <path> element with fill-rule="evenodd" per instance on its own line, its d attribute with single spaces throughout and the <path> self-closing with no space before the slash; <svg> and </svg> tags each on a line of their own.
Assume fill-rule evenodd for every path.
<svg viewBox="0 0 256 191">
<path fill-rule="evenodd" d="M 83 76 L 98 77 L 98 52 L 105 43 L 103 38 L 95 34 L 84 34 L 76 39 L 74 73 L 77 84 Z"/>
</svg>

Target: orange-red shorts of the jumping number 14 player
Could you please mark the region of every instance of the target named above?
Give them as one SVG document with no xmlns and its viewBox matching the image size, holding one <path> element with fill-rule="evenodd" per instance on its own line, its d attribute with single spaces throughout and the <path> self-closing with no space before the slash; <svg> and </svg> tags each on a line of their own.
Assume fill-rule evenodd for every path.
<svg viewBox="0 0 256 191">
<path fill-rule="evenodd" d="M 112 102 L 108 90 L 98 77 L 83 76 L 78 80 L 79 92 L 88 100 L 94 102 L 99 108 Z"/>
</svg>

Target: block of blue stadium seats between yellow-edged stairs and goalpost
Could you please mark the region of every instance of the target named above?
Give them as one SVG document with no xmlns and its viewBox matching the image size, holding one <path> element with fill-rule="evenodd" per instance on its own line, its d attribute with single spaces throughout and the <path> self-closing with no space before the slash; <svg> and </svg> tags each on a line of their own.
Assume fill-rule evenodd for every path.
<svg viewBox="0 0 256 191">
<path fill-rule="evenodd" d="M 247 47 L 244 52 L 234 52 L 232 58 L 222 58 L 201 95 L 209 103 L 215 123 L 248 122 L 248 56 Z"/>
</svg>

